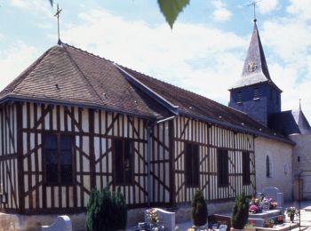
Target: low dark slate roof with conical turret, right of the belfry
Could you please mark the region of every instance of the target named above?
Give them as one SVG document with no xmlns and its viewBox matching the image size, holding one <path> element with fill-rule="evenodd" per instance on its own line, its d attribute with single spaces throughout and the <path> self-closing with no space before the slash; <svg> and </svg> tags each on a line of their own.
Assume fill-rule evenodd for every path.
<svg viewBox="0 0 311 231">
<path fill-rule="evenodd" d="M 311 134 L 311 126 L 307 122 L 307 118 L 301 108 L 273 114 L 269 119 L 268 126 L 282 133 L 284 136 L 291 134 Z"/>
</svg>

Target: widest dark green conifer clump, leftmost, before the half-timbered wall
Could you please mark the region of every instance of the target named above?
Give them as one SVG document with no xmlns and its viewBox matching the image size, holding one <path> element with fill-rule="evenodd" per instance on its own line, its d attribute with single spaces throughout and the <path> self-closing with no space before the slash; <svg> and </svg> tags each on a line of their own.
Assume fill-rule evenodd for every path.
<svg viewBox="0 0 311 231">
<path fill-rule="evenodd" d="M 120 187 L 116 192 L 93 189 L 86 207 L 87 231 L 120 230 L 126 228 L 127 208 Z"/>
</svg>

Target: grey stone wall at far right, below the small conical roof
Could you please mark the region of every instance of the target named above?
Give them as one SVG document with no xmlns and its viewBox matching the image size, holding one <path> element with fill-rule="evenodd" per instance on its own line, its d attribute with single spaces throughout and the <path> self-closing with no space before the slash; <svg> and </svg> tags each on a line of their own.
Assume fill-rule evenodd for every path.
<svg viewBox="0 0 311 231">
<path fill-rule="evenodd" d="M 290 135 L 289 138 L 296 143 L 296 146 L 293 147 L 292 167 L 295 179 L 294 187 L 296 189 L 294 199 L 298 200 L 298 174 L 300 171 L 311 171 L 311 135 L 295 134 Z M 302 174 L 301 191 L 311 192 L 311 177 L 306 177 L 306 175 L 311 175 L 311 172 Z M 303 194 L 301 197 L 310 200 L 311 194 Z"/>
</svg>

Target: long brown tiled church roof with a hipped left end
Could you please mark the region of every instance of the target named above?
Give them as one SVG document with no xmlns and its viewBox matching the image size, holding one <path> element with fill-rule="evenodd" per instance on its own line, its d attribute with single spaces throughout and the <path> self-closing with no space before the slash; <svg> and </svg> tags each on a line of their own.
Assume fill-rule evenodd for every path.
<svg viewBox="0 0 311 231">
<path fill-rule="evenodd" d="M 6 100 L 104 108 L 155 120 L 192 116 L 292 144 L 240 111 L 68 44 L 53 46 L 0 92 L 0 102 Z"/>
</svg>

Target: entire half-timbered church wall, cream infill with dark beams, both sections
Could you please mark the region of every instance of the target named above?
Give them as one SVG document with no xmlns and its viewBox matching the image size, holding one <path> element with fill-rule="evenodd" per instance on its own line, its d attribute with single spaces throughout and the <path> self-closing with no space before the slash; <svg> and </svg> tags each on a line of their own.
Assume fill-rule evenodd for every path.
<svg viewBox="0 0 311 231">
<path fill-rule="evenodd" d="M 85 211 L 92 188 L 115 190 L 114 140 L 132 143 L 132 184 L 119 185 L 129 208 L 189 203 L 203 189 L 210 201 L 255 192 L 254 137 L 189 116 L 156 123 L 100 109 L 15 102 L 0 108 L 0 180 L 6 202 L 0 211 L 58 213 Z M 71 184 L 46 179 L 44 136 L 72 137 Z M 185 144 L 198 147 L 199 184 L 185 183 Z M 219 187 L 217 151 L 228 154 L 228 184 Z M 243 153 L 250 154 L 251 183 L 243 185 Z M 149 171 L 148 171 L 149 170 Z"/>
</svg>

